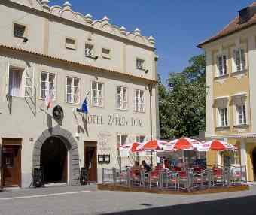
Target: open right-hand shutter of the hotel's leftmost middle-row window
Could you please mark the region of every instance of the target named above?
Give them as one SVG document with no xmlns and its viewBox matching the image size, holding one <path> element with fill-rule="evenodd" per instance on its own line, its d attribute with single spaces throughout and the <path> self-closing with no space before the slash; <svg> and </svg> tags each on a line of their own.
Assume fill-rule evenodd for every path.
<svg viewBox="0 0 256 215">
<path fill-rule="evenodd" d="M 35 68 L 28 67 L 25 70 L 25 98 L 32 98 L 35 94 L 35 87 L 34 87 L 34 74 Z"/>
</svg>

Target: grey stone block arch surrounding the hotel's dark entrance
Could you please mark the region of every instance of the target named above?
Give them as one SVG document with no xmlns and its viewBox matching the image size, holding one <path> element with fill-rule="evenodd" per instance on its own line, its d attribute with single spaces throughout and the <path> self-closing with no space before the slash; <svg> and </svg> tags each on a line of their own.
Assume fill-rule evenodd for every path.
<svg viewBox="0 0 256 215">
<path fill-rule="evenodd" d="M 33 168 L 41 168 L 44 165 L 43 163 L 41 163 L 41 152 L 44 153 L 44 150 L 46 151 L 50 150 L 48 148 L 50 146 L 50 140 L 56 140 L 56 142 L 59 142 L 59 146 L 60 145 L 62 146 L 62 150 L 64 150 L 63 146 L 66 147 L 66 152 L 67 152 L 66 182 L 69 185 L 78 184 L 79 183 L 78 144 L 75 141 L 75 139 L 72 137 L 72 134 L 66 129 L 62 129 L 60 126 L 55 126 L 51 129 L 46 129 L 44 132 L 42 132 L 38 140 L 35 141 L 34 150 L 33 150 L 33 161 L 32 161 Z M 49 144 L 48 147 L 47 147 L 47 144 Z M 46 149 L 44 149 L 43 146 L 46 146 Z M 63 156 L 63 153 L 61 153 L 60 156 Z M 63 168 L 63 164 L 62 164 L 62 168 Z M 65 174 L 65 172 L 62 172 L 62 173 Z M 63 175 L 63 177 L 65 177 L 65 175 Z M 53 180 L 53 178 L 51 178 L 51 180 Z"/>
</svg>

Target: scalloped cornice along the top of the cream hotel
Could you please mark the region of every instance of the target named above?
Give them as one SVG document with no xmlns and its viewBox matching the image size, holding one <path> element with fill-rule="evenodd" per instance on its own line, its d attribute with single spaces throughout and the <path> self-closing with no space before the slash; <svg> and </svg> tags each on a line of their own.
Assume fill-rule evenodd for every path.
<svg viewBox="0 0 256 215">
<path fill-rule="evenodd" d="M 149 38 L 142 36 L 140 34 L 140 31 L 138 32 L 139 29 L 136 29 L 135 32 L 123 33 L 123 29 L 125 29 L 123 26 L 118 28 L 117 26 L 113 26 L 110 23 L 104 23 L 105 17 L 103 18 L 103 20 L 94 20 L 92 23 L 87 23 L 87 21 L 86 21 L 87 16 L 84 17 L 84 16 L 82 16 L 82 14 L 72 11 L 70 8 L 67 9 L 67 8 L 61 8 L 60 6 L 53 6 L 53 7 L 50 7 L 49 11 L 44 11 L 44 10 L 38 10 L 37 8 L 31 8 L 26 5 L 21 5 L 17 2 L 11 2 L 8 0 L 2 0 L 1 4 L 11 6 L 13 8 L 20 8 L 23 11 L 26 11 L 26 12 L 29 11 L 29 13 L 47 18 L 49 20 L 56 20 L 59 23 L 64 23 L 69 26 L 75 26 L 79 29 L 85 29 L 90 32 L 95 32 L 99 35 L 103 35 L 108 38 L 113 38 L 113 39 L 116 39 L 117 41 L 124 41 L 124 42 L 126 42 L 126 44 L 132 44 L 136 47 L 142 47 L 146 50 L 151 50 L 151 51 L 155 50 L 154 38 L 152 36 L 150 36 Z M 81 23 L 78 20 L 78 18 L 77 18 L 77 20 L 71 20 L 71 19 L 67 19 L 66 17 L 62 17 L 61 15 L 53 14 L 53 8 L 62 9 L 62 12 L 69 11 L 72 14 L 74 14 L 74 16 L 82 17 L 81 19 L 84 19 L 83 23 Z M 100 23 L 101 29 L 99 27 L 97 27 L 97 23 Z M 112 29 L 112 32 L 103 30 L 103 28 L 105 26 L 109 26 Z M 117 32 L 117 34 L 114 34 L 114 32 Z M 135 41 L 136 38 L 139 38 L 140 42 Z"/>
</svg>

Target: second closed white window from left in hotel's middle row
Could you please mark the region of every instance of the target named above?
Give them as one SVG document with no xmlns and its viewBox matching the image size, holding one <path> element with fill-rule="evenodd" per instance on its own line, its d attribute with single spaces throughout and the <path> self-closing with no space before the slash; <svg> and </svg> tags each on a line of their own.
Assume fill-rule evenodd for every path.
<svg viewBox="0 0 256 215">
<path fill-rule="evenodd" d="M 80 103 L 80 80 L 76 77 L 67 77 L 66 101 L 68 103 Z"/>
</svg>

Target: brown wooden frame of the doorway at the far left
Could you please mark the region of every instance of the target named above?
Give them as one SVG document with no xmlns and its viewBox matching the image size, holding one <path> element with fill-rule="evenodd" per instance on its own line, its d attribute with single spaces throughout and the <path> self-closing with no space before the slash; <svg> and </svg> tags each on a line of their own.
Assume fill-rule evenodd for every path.
<svg viewBox="0 0 256 215">
<path fill-rule="evenodd" d="M 22 138 L 2 138 L 2 144 L 1 144 L 1 148 L 5 147 L 5 146 L 18 146 L 19 150 L 18 150 L 18 156 L 19 156 L 19 163 L 20 166 L 18 168 L 19 174 L 18 174 L 18 186 L 21 187 L 21 150 L 22 150 Z M 1 149 L 1 153 L 2 153 L 2 149 Z M 3 153 L 1 154 L 1 159 L 2 159 Z M 2 161 L 1 161 L 1 165 L 2 165 Z M 4 186 L 4 169 L 1 169 L 1 186 Z"/>
</svg>

